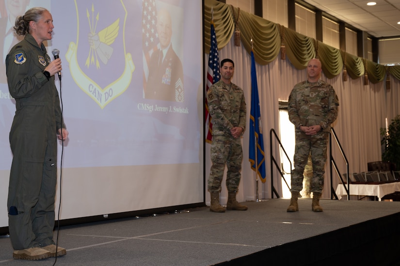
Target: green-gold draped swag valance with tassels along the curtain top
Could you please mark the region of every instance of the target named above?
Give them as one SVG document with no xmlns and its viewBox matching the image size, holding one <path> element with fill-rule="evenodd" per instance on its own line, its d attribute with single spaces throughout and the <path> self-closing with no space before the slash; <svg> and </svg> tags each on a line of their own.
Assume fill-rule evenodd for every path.
<svg viewBox="0 0 400 266">
<path fill-rule="evenodd" d="M 345 68 L 346 76 L 348 74 L 353 79 L 365 76 L 370 82 L 378 83 L 390 74 L 400 80 L 400 65 L 384 66 L 351 55 L 248 12 L 240 11 L 240 23 L 235 25 L 235 15 L 239 14 L 239 9 L 231 8 L 217 0 L 204 1 L 205 51 L 210 48 L 211 7 L 214 11 L 218 49 L 226 46 L 236 28 L 239 27 L 240 41 L 249 54 L 252 50 L 251 40 L 253 39 L 254 57 L 260 65 L 271 63 L 281 54 L 281 57 L 287 56 L 290 63 L 301 70 L 306 68 L 310 59 L 318 57 L 327 78 L 334 78 Z M 282 52 L 281 49 L 284 51 Z"/>
</svg>

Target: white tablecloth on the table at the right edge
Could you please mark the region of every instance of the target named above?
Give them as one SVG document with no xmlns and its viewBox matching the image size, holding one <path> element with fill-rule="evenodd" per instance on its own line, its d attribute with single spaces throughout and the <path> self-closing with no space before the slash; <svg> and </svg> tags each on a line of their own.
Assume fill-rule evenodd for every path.
<svg viewBox="0 0 400 266">
<path fill-rule="evenodd" d="M 379 185 L 350 184 L 350 195 L 377 196 L 379 200 L 381 200 L 384 195 L 393 193 L 395 191 L 400 191 L 400 182 L 384 183 Z M 346 190 L 342 184 L 337 185 L 336 195 L 339 200 L 343 196 L 347 196 Z"/>
</svg>

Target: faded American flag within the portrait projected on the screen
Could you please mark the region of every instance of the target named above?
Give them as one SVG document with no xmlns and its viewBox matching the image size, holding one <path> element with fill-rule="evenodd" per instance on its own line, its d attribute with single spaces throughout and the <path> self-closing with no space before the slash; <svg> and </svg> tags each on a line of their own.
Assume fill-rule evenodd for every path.
<svg viewBox="0 0 400 266">
<path fill-rule="evenodd" d="M 155 0 L 142 2 L 142 42 L 143 42 L 143 90 L 146 91 L 148 64 L 150 57 L 157 50 L 159 36 L 157 34 L 157 7 Z"/>
</svg>

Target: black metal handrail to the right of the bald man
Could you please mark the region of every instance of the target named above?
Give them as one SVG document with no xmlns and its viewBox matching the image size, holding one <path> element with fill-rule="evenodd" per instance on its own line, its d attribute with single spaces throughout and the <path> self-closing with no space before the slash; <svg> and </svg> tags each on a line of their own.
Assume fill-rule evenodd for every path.
<svg viewBox="0 0 400 266">
<path fill-rule="evenodd" d="M 342 175 L 339 171 L 339 169 L 337 168 L 335 159 L 333 158 L 332 155 L 332 136 L 335 138 L 336 144 L 343 156 L 344 161 L 346 162 L 346 171 L 347 171 L 347 176 L 346 176 L 346 182 L 344 182 Z M 335 196 L 336 200 L 337 195 L 335 192 L 335 188 L 333 187 L 333 167 L 332 165 L 335 167 L 336 170 L 336 174 L 339 176 L 340 181 L 342 182 L 342 185 L 344 186 L 344 189 L 346 190 L 347 193 L 347 200 L 350 200 L 350 173 L 349 173 L 349 161 L 347 160 L 347 157 L 343 151 L 342 145 L 340 144 L 339 139 L 337 138 L 336 132 L 333 129 L 333 127 L 331 128 L 331 134 L 329 134 L 329 163 L 330 163 L 330 174 L 331 174 L 331 200 L 333 199 L 333 196 Z M 346 184 L 347 184 L 347 188 L 346 188 Z"/>
</svg>

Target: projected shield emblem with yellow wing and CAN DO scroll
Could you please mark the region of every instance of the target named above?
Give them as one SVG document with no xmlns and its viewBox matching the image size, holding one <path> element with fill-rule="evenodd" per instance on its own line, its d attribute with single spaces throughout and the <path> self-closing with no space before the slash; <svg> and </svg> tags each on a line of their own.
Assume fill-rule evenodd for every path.
<svg viewBox="0 0 400 266">
<path fill-rule="evenodd" d="M 110 3 L 95 7 L 75 0 L 77 41 L 66 53 L 72 78 L 101 109 L 127 90 L 135 70 L 125 49 L 127 10 L 122 0 Z"/>
</svg>

